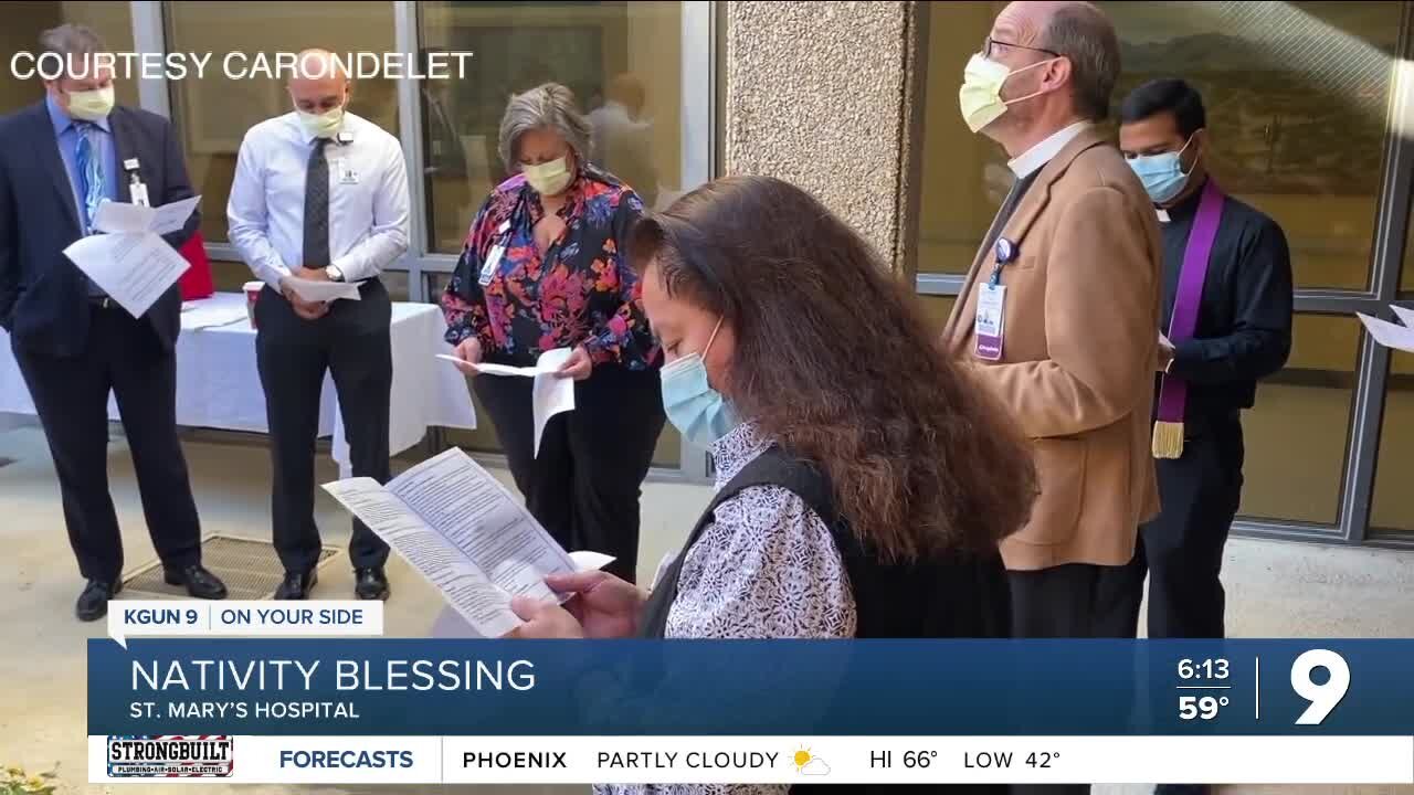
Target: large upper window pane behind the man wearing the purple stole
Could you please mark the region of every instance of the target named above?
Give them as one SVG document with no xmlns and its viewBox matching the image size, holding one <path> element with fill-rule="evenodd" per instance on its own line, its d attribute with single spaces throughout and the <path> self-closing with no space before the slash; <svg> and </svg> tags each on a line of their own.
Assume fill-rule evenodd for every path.
<svg viewBox="0 0 1414 795">
<path fill-rule="evenodd" d="M 1209 168 L 1287 233 L 1299 287 L 1369 284 L 1400 3 L 1100 3 L 1116 103 L 1181 76 L 1203 93 Z"/>
</svg>

